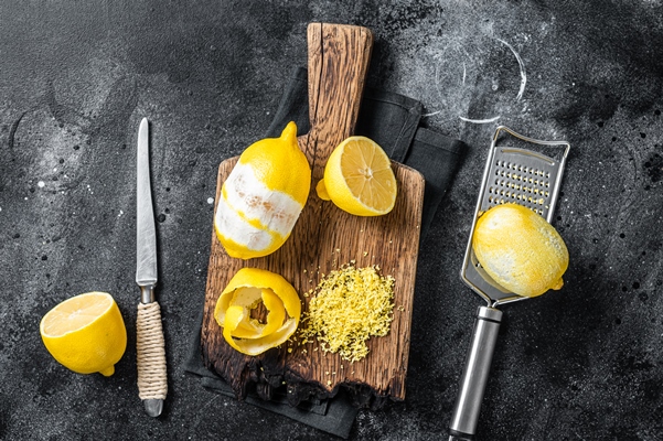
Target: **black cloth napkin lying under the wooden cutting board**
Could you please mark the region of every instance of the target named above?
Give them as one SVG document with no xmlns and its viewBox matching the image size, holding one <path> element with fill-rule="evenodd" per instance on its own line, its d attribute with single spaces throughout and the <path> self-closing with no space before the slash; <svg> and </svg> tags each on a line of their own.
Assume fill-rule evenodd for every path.
<svg viewBox="0 0 663 441">
<path fill-rule="evenodd" d="M 278 137 L 289 121 L 297 123 L 298 133 L 309 131 L 309 96 L 307 69 L 292 72 L 275 118 L 265 137 Z M 467 146 L 419 126 L 423 106 L 403 95 L 366 88 L 362 99 L 355 135 L 377 142 L 393 160 L 418 170 L 426 180 L 420 240 L 453 179 Z M 232 388 L 215 373 L 203 366 L 201 356 L 201 326 L 203 313 L 193 330 L 185 370 L 196 375 L 206 389 L 234 397 Z M 263 400 L 249 394 L 246 402 L 287 416 L 308 426 L 346 439 L 359 409 L 349 394 L 341 388 L 331 399 L 308 401 L 299 407 L 288 404 L 285 394 Z"/>
</svg>

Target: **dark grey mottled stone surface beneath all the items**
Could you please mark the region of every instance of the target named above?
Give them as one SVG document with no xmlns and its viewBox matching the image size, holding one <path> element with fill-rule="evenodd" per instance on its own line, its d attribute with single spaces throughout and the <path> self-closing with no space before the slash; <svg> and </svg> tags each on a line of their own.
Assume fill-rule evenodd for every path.
<svg viewBox="0 0 663 441">
<path fill-rule="evenodd" d="M 407 399 L 361 411 L 352 439 L 446 432 L 482 304 L 459 270 L 498 123 L 571 143 L 555 220 L 571 263 L 562 291 L 503 308 L 479 439 L 663 439 L 663 8 L 623 0 L 0 2 L 0 439 L 333 439 L 182 368 L 217 164 L 269 125 L 310 21 L 371 28 L 368 83 L 472 147 L 420 252 Z M 143 116 L 170 366 L 159 419 L 137 397 L 132 343 Z M 46 311 L 90 290 L 127 322 L 110 378 L 68 372 L 39 335 Z"/>
</svg>

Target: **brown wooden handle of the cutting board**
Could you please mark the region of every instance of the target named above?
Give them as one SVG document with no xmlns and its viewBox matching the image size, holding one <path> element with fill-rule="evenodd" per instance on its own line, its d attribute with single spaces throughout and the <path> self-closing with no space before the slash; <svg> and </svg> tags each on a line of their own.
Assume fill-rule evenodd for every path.
<svg viewBox="0 0 663 441">
<path fill-rule="evenodd" d="M 323 165 L 333 149 L 354 133 L 373 33 L 355 25 L 310 23 L 307 44 L 311 128 L 302 147 L 314 165 Z M 320 166 L 314 166 L 313 176 L 321 178 Z"/>
</svg>

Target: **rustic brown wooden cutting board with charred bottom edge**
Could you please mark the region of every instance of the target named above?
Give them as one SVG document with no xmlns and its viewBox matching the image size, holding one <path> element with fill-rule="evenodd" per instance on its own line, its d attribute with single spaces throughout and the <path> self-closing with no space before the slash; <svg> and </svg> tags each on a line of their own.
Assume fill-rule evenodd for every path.
<svg viewBox="0 0 663 441">
<path fill-rule="evenodd" d="M 363 398 L 355 398 L 373 406 L 386 398 L 405 398 L 424 178 L 414 169 L 392 162 L 398 184 L 396 206 L 377 217 L 350 215 L 321 201 L 314 190 L 329 154 L 353 135 L 372 43 L 371 31 L 365 28 L 327 23 L 308 26 L 311 129 L 298 141 L 311 164 L 312 183 L 307 205 L 286 244 L 270 256 L 240 260 L 231 258 L 212 233 L 202 355 L 205 366 L 228 381 L 239 399 L 254 386 L 261 397 L 271 398 L 284 384 L 293 405 L 311 395 L 333 396 L 340 385 L 359 391 Z M 237 159 L 221 163 L 216 201 Z M 395 278 L 391 332 L 368 341 L 370 354 L 363 361 L 350 364 L 336 354 L 318 351 L 313 343 L 287 343 L 250 357 L 224 341 L 214 320 L 214 306 L 239 268 L 280 273 L 299 292 L 302 311 L 307 311 L 309 298 L 303 293 L 314 288 L 323 275 L 353 260 L 357 268 L 377 265 L 383 276 Z"/>
</svg>

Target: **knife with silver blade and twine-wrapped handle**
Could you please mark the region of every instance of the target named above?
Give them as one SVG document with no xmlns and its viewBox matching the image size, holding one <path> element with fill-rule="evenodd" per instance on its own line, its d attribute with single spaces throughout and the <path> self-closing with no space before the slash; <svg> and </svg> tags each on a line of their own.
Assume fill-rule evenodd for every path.
<svg viewBox="0 0 663 441">
<path fill-rule="evenodd" d="M 138 396 L 146 412 L 158 417 L 168 394 L 165 346 L 161 325 L 161 308 L 156 301 L 157 229 L 150 191 L 150 126 L 147 118 L 138 129 L 136 170 L 136 283 L 140 303 L 136 320 L 136 355 Z"/>
</svg>

